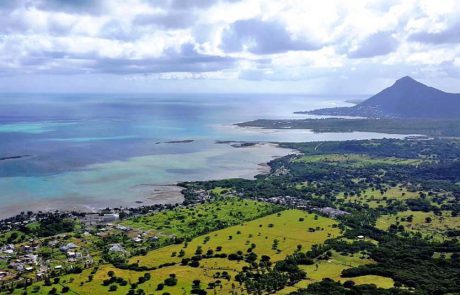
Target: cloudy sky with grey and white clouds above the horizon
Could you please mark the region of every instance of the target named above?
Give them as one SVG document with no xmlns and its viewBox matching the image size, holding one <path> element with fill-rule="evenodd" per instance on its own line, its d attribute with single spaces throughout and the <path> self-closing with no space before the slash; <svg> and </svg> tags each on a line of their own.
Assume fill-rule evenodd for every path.
<svg viewBox="0 0 460 295">
<path fill-rule="evenodd" d="M 460 92 L 456 0 L 0 0 L 0 92 Z"/>
</svg>

